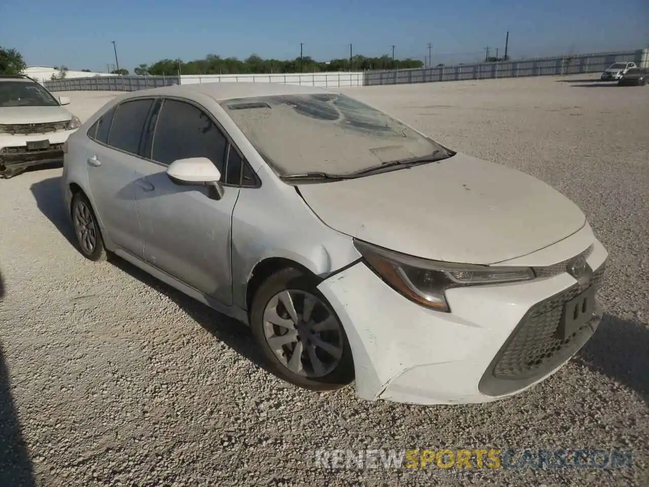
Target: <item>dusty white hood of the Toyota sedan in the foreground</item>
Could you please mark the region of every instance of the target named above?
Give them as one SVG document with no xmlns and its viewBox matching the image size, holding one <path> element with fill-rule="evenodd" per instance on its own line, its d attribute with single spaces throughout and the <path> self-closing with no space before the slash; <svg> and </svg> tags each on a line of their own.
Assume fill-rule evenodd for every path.
<svg viewBox="0 0 649 487">
<path fill-rule="evenodd" d="M 516 258 L 563 240 L 586 221 L 545 182 L 460 153 L 410 169 L 303 184 L 299 192 L 337 231 L 445 262 Z"/>
</svg>

